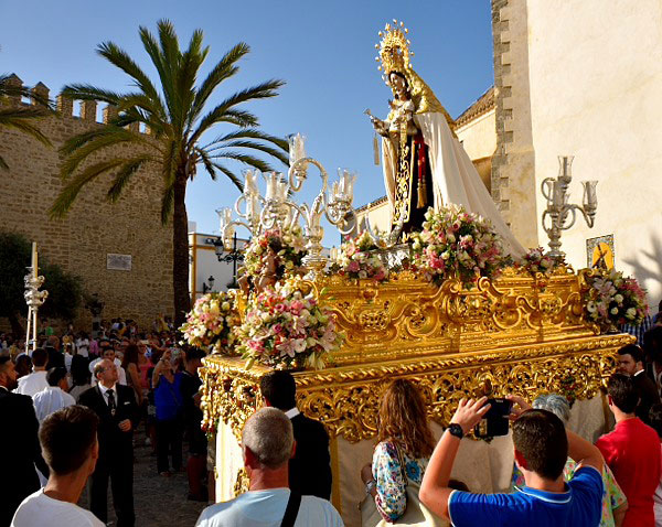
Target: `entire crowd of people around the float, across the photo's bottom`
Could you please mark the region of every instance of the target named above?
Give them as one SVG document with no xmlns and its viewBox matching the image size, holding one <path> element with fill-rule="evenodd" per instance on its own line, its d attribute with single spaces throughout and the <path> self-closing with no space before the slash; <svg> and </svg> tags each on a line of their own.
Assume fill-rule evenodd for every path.
<svg viewBox="0 0 662 527">
<path fill-rule="evenodd" d="M 108 334 L 96 352 L 88 340 L 84 362 L 74 353 L 68 367 L 58 363 L 54 335 L 32 354 L 0 354 L 0 416 L 17 423 L 0 434 L 7 471 L 15 475 L 0 478 L 9 499 L 1 525 L 105 525 L 109 481 L 117 525 L 134 525 L 132 445 L 142 424 L 163 476 L 182 469 L 186 434 L 191 497 L 206 499 L 202 354 L 169 346 L 168 338 Z M 662 325 L 649 329 L 642 344 L 618 351 L 606 388 L 615 426 L 595 444 L 567 429 L 570 405 L 563 396 L 508 397 L 514 465 L 510 492 L 499 494 L 473 493 L 450 477 L 461 439 L 490 410 L 487 397 L 462 399 L 437 440 L 417 386 L 391 380 L 372 462 L 356 471 L 365 485 L 362 526 L 662 526 Z M 23 363 L 31 370 L 19 374 Z M 330 502 L 329 435 L 298 410 L 292 375 L 265 374 L 260 392 L 261 408 L 242 433 L 249 491 L 206 507 L 196 525 L 343 525 Z M 90 510 L 76 505 L 87 480 Z"/>
</svg>

